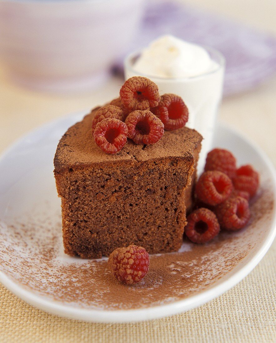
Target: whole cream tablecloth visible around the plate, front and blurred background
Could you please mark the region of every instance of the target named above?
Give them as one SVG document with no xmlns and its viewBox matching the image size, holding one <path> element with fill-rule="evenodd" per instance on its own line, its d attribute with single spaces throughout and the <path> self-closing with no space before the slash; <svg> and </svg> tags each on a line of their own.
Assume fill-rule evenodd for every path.
<svg viewBox="0 0 276 343">
<path fill-rule="evenodd" d="M 186 0 L 276 35 L 274 0 Z M 82 95 L 45 95 L 12 85 L 0 65 L 0 153 L 21 135 L 117 97 L 120 79 Z M 276 75 L 225 98 L 219 119 L 252 139 L 276 165 Z M 226 294 L 182 315 L 137 324 L 93 324 L 48 315 L 0 285 L 0 342 L 275 342 L 276 244 Z"/>
</svg>

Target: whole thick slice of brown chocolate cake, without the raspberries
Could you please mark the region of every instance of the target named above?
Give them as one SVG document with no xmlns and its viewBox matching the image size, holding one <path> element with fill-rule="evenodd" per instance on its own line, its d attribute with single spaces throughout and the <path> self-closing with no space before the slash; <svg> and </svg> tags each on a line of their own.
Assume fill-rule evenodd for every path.
<svg viewBox="0 0 276 343">
<path fill-rule="evenodd" d="M 154 145 L 129 140 L 108 155 L 93 139 L 96 110 L 68 129 L 54 159 L 65 253 L 100 258 L 130 244 L 149 253 L 178 250 L 201 135 L 165 131 Z"/>
</svg>

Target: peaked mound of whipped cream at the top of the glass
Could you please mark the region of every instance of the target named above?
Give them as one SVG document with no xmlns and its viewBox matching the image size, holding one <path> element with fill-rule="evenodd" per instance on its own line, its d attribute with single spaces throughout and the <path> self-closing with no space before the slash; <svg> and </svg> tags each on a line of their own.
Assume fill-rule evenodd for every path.
<svg viewBox="0 0 276 343">
<path fill-rule="evenodd" d="M 204 48 L 171 35 L 154 40 L 133 65 L 137 72 L 160 78 L 193 77 L 217 67 Z"/>
</svg>

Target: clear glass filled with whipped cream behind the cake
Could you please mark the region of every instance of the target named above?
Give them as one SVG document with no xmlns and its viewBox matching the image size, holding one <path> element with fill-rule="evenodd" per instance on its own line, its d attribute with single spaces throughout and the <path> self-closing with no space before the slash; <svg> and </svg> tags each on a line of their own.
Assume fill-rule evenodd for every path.
<svg viewBox="0 0 276 343">
<path fill-rule="evenodd" d="M 218 106 L 223 91 L 225 59 L 220 52 L 166 35 L 124 61 L 125 79 L 144 76 L 158 85 L 160 95 L 182 97 L 189 109 L 186 124 L 199 131 L 204 140 L 198 170 L 212 149 Z"/>
</svg>

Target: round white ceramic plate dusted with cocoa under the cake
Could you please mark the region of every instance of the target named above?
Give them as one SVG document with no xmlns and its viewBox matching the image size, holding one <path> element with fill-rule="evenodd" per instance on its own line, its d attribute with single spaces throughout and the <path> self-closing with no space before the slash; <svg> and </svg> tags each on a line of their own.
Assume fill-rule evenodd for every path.
<svg viewBox="0 0 276 343">
<path fill-rule="evenodd" d="M 220 233 L 206 245 L 185 241 L 177 253 L 151 256 L 134 286 L 113 280 L 106 259 L 63 253 L 60 199 L 53 156 L 61 135 L 84 113 L 62 118 L 16 142 L 0 160 L 0 282 L 40 309 L 94 322 L 128 322 L 183 312 L 217 297 L 243 279 L 275 236 L 275 170 L 237 132 L 218 125 L 214 146 L 232 151 L 238 165 L 260 172 L 247 228 Z"/>
</svg>

